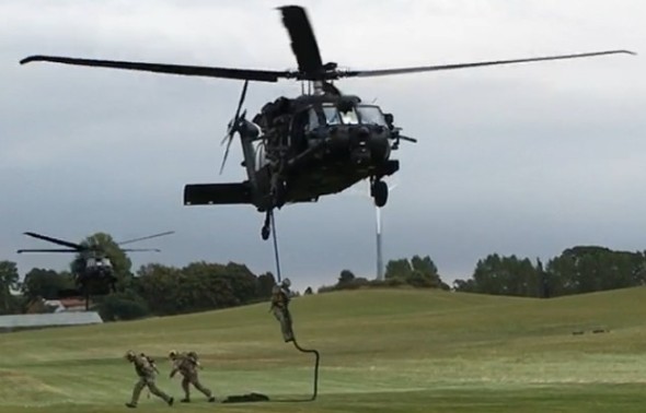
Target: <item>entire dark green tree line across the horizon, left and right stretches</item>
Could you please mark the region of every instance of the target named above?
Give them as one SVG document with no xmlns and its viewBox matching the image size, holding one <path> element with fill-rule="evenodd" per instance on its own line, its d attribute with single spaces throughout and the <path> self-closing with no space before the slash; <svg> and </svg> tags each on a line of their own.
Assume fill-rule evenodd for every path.
<svg viewBox="0 0 646 413">
<path fill-rule="evenodd" d="M 276 280 L 270 272 L 254 274 L 243 263 L 206 261 L 185 267 L 148 263 L 132 272 L 128 256 L 107 234 L 99 233 L 82 244 L 97 244 L 111 259 L 117 276 L 117 293 L 92 297 L 105 321 L 147 316 L 169 316 L 265 302 L 270 298 Z M 0 315 L 34 311 L 34 303 L 57 299 L 61 291 L 74 288 L 73 274 L 82 269 L 79 253 L 69 271 L 34 268 L 22 282 L 15 262 L 0 261 Z M 390 260 L 383 281 L 356 276 L 341 271 L 334 285 L 318 293 L 361 287 L 439 288 L 476 294 L 527 297 L 555 297 L 604 290 L 624 288 L 646 283 L 646 251 L 613 251 L 609 248 L 578 246 L 541 260 L 492 253 L 477 261 L 473 274 L 455 280 L 452 286 L 442 281 L 429 256 Z M 13 295 L 11 291 L 21 295 Z M 298 292 L 295 293 L 298 295 Z M 308 287 L 304 294 L 313 294 Z M 46 311 L 42 308 L 41 311 Z M 38 309 L 36 309 L 38 311 Z"/>
</svg>

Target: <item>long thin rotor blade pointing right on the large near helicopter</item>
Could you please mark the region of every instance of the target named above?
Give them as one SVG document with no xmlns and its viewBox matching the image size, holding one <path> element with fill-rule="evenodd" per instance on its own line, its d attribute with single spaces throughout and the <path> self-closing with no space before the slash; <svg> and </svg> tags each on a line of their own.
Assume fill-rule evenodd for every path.
<svg viewBox="0 0 646 413">
<path fill-rule="evenodd" d="M 528 58 L 528 59 L 492 60 L 492 61 L 478 61 L 478 62 L 472 62 L 472 63 L 440 64 L 440 66 L 422 66 L 422 67 L 415 67 L 415 68 L 383 69 L 383 70 L 349 70 L 347 72 L 339 72 L 338 74 L 339 74 L 339 76 L 345 76 L 345 78 L 368 78 L 368 76 L 382 76 L 382 75 L 390 75 L 390 74 L 430 72 L 430 71 L 438 71 L 438 70 L 478 68 L 478 67 L 483 67 L 483 66 L 524 63 L 524 62 L 530 62 L 530 61 L 575 59 L 575 58 L 585 58 L 585 57 L 602 56 L 602 55 L 615 55 L 615 54 L 636 55 L 634 51 L 630 51 L 630 50 L 607 50 L 607 51 L 593 51 L 593 52 L 577 54 L 577 55 L 557 55 L 557 56 L 546 56 L 546 57 Z"/>
</svg>

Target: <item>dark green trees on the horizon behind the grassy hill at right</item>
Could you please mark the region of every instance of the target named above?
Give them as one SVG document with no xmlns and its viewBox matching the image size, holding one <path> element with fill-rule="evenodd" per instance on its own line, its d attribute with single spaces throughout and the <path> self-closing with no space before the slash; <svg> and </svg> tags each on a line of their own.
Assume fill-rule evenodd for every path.
<svg viewBox="0 0 646 413">
<path fill-rule="evenodd" d="M 543 266 L 540 259 L 492 253 L 475 264 L 471 278 L 447 285 L 434 261 L 414 256 L 388 263 L 384 281 L 357 278 L 343 270 L 336 284 L 320 293 L 359 287 L 409 285 L 463 293 L 550 298 L 573 294 L 627 288 L 646 284 L 646 251 L 614 251 L 604 247 L 565 249 Z"/>
</svg>

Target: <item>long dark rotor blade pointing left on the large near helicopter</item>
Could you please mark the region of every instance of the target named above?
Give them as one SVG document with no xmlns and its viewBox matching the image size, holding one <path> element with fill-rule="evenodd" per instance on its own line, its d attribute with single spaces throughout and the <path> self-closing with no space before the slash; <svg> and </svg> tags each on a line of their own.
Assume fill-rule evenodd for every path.
<svg viewBox="0 0 646 413">
<path fill-rule="evenodd" d="M 230 69 L 211 68 L 204 66 L 162 64 L 122 60 L 95 60 L 79 59 L 60 56 L 30 56 L 20 61 L 21 64 L 32 61 L 49 61 L 54 63 L 90 66 L 109 69 L 138 70 L 145 72 L 183 74 L 187 76 L 241 79 L 257 82 L 278 82 L 280 78 L 293 78 L 295 74 L 288 71 L 255 70 L 255 69 Z"/>
</svg>

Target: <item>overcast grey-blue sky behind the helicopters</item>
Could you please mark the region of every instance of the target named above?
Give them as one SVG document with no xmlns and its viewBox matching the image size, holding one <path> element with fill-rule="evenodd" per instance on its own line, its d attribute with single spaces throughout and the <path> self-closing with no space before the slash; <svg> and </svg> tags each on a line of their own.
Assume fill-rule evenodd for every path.
<svg viewBox="0 0 646 413">
<path fill-rule="evenodd" d="M 297 63 L 278 1 L 0 1 L 0 259 L 67 268 L 35 231 L 141 243 L 157 261 L 274 271 L 253 206 L 183 206 L 185 184 L 240 181 L 220 140 L 242 82 L 35 62 L 30 55 L 252 69 Z M 382 210 L 385 259 L 429 255 L 442 279 L 492 252 L 549 259 L 575 245 L 646 249 L 646 3 L 637 0 L 300 1 L 324 61 L 353 69 L 607 49 L 641 55 L 388 78 L 337 86 L 393 113 L 405 134 Z M 253 116 L 290 81 L 251 83 Z M 252 116 L 249 116 L 250 118 Z M 365 186 L 362 187 L 365 189 Z M 359 188 L 361 189 L 361 188 Z M 341 270 L 373 278 L 374 208 L 360 190 L 277 213 L 282 275 L 302 291 Z M 305 222 L 313 224 L 305 225 Z"/>
</svg>

